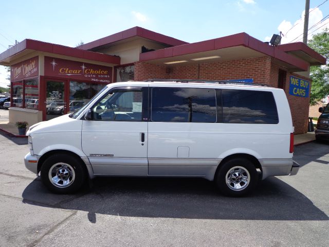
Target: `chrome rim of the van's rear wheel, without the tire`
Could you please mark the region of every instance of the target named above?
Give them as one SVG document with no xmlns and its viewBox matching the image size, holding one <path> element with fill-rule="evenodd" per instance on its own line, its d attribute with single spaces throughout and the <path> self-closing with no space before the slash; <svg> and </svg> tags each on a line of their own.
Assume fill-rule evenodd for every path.
<svg viewBox="0 0 329 247">
<path fill-rule="evenodd" d="M 246 168 L 234 166 L 226 173 L 225 182 L 232 190 L 243 190 L 250 182 L 250 174 Z"/>
</svg>

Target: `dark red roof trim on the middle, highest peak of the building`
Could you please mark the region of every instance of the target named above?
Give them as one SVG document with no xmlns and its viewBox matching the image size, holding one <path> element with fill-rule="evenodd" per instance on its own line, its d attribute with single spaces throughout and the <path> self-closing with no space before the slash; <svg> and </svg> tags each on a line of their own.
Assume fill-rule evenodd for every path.
<svg viewBox="0 0 329 247">
<path fill-rule="evenodd" d="M 145 39 L 149 39 L 149 40 L 153 40 L 153 41 L 160 42 L 160 43 L 167 44 L 167 45 L 171 45 L 171 46 L 188 44 L 185 41 L 177 40 L 177 39 L 174 39 L 172 37 L 165 36 L 163 34 L 150 31 L 148 29 L 144 29 L 144 28 L 141 28 L 141 27 L 133 27 L 133 28 L 121 31 L 121 32 L 114 33 L 110 36 L 107 36 L 107 37 L 89 42 L 87 44 L 81 45 L 81 46 L 79 46 L 79 48 L 84 49 L 84 50 L 89 50 L 89 49 L 96 48 L 98 46 L 111 44 L 111 43 L 114 43 L 114 42 L 117 42 L 117 41 L 120 41 L 120 40 L 125 40 L 125 39 L 128 39 L 128 38 L 132 38 L 132 37 L 135 37 L 135 36 L 145 38 Z"/>
</svg>

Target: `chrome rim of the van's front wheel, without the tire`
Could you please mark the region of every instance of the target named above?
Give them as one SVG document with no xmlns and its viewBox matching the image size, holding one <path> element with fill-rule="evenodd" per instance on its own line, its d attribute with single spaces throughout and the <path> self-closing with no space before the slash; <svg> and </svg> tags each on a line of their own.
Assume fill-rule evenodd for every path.
<svg viewBox="0 0 329 247">
<path fill-rule="evenodd" d="M 72 166 L 60 162 L 51 166 L 48 172 L 48 178 L 54 186 L 65 188 L 74 182 L 76 173 Z"/>
</svg>

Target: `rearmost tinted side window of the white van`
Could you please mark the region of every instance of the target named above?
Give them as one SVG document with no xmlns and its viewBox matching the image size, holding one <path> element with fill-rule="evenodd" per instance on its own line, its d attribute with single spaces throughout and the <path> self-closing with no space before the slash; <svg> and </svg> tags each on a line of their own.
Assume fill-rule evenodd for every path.
<svg viewBox="0 0 329 247">
<path fill-rule="evenodd" d="M 223 122 L 279 122 L 277 105 L 271 92 L 222 90 Z"/>
</svg>

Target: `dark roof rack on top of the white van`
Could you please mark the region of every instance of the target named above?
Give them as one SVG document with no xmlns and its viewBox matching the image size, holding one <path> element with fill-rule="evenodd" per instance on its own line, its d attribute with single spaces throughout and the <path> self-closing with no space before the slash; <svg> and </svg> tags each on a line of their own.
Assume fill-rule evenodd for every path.
<svg viewBox="0 0 329 247">
<path fill-rule="evenodd" d="M 214 84 L 223 84 L 223 85 L 248 85 L 248 86 L 266 86 L 270 87 L 266 84 L 258 84 L 258 83 L 250 83 L 245 81 L 215 81 L 215 80 L 191 80 L 191 79 L 148 79 L 145 82 L 181 82 L 181 83 L 190 83 L 190 82 L 197 82 L 197 83 L 214 83 Z"/>
</svg>

